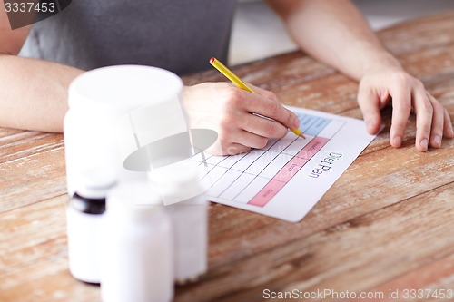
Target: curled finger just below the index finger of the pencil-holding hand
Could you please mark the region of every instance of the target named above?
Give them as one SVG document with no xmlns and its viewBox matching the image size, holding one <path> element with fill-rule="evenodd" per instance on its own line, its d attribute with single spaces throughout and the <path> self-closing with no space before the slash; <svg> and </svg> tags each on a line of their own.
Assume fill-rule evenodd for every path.
<svg viewBox="0 0 454 302">
<path fill-rule="evenodd" d="M 282 138 L 288 132 L 288 129 L 280 122 L 264 119 L 253 114 L 249 115 L 251 116 L 243 121 L 244 124 L 240 125 L 247 132 L 267 138 Z"/>
</svg>

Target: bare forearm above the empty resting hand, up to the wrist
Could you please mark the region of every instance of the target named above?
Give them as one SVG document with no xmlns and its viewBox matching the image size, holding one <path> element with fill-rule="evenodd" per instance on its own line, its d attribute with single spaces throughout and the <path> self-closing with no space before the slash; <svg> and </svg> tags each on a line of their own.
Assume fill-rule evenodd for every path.
<svg viewBox="0 0 454 302">
<path fill-rule="evenodd" d="M 269 4 L 303 50 L 356 80 L 383 64 L 401 69 L 348 0 L 290 0 L 286 4 L 279 0 Z"/>
</svg>

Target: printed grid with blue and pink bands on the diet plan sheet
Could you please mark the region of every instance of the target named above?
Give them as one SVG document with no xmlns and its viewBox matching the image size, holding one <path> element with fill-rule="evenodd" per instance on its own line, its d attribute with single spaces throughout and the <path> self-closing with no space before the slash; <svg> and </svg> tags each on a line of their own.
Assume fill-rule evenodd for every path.
<svg viewBox="0 0 454 302">
<path fill-rule="evenodd" d="M 345 124 L 309 114 L 297 115 L 306 139 L 288 132 L 281 140 L 270 140 L 263 150 L 211 155 L 204 162 L 201 153 L 194 155 L 193 161 L 209 167 L 203 175 L 211 181 L 208 196 L 264 207 Z"/>
</svg>

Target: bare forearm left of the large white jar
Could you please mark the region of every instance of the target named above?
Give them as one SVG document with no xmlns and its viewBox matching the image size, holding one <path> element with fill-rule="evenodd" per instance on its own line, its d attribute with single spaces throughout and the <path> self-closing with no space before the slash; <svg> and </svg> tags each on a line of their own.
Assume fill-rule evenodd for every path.
<svg viewBox="0 0 454 302">
<path fill-rule="evenodd" d="M 0 127 L 63 132 L 69 83 L 83 71 L 0 54 Z"/>
</svg>

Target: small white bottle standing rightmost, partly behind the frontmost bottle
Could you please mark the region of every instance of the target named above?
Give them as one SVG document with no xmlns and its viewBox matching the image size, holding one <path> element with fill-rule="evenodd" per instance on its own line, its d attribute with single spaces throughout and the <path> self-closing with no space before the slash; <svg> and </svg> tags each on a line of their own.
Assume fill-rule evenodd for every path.
<svg viewBox="0 0 454 302">
<path fill-rule="evenodd" d="M 198 180 L 197 164 L 181 161 L 153 170 L 150 180 L 160 191 L 173 223 L 175 281 L 196 281 L 207 270 L 208 201 Z"/>
</svg>

